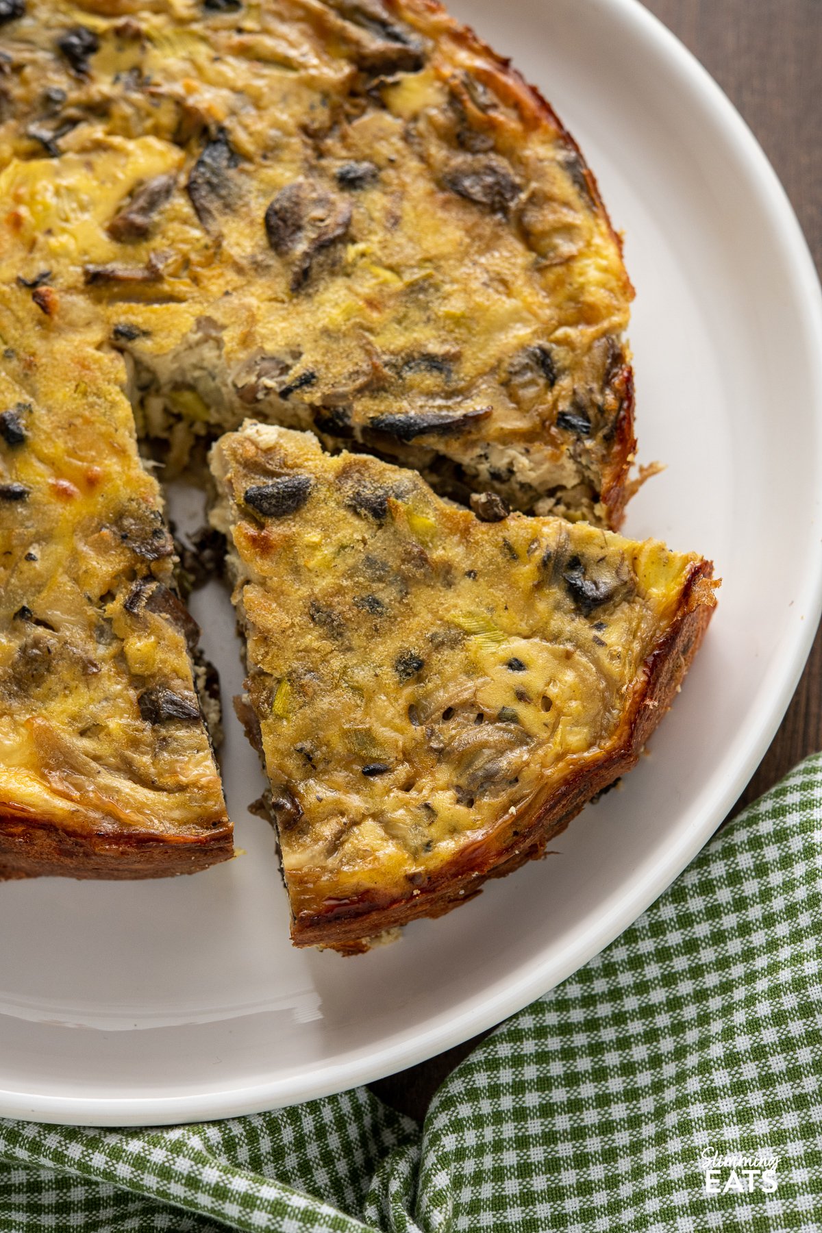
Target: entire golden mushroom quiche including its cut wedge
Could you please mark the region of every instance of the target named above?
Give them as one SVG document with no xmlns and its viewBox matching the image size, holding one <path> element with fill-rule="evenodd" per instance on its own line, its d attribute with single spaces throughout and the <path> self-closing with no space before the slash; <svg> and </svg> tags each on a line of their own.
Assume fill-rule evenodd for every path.
<svg viewBox="0 0 822 1233">
<path fill-rule="evenodd" d="M 0 875 L 232 853 L 154 470 L 216 438 L 295 941 L 631 764 L 710 567 L 608 530 L 632 289 L 505 60 L 431 0 L 0 0 Z"/>
</svg>

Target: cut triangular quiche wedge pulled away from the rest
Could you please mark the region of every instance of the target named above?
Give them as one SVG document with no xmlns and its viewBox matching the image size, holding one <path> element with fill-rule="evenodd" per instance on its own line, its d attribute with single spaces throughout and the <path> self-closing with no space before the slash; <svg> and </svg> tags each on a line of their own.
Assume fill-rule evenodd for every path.
<svg viewBox="0 0 822 1233">
<path fill-rule="evenodd" d="M 297 946 L 368 940 L 540 856 L 633 766 L 714 609 L 711 563 L 473 513 L 258 423 L 211 454 Z"/>
</svg>

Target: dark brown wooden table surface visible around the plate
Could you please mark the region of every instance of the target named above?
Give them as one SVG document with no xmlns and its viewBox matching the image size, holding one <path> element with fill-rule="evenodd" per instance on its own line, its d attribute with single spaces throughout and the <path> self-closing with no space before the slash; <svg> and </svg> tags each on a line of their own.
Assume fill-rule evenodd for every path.
<svg viewBox="0 0 822 1233">
<path fill-rule="evenodd" d="M 702 62 L 753 128 L 822 272 L 822 0 L 645 4 Z M 732 814 L 817 750 L 822 750 L 822 630 L 783 725 Z M 382 1079 L 372 1090 L 394 1108 L 421 1118 L 434 1091 L 479 1039 Z"/>
</svg>

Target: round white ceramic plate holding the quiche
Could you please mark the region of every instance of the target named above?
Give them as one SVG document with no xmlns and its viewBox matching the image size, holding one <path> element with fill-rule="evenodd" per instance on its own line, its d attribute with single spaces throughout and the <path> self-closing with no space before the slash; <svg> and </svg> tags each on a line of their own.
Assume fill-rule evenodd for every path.
<svg viewBox="0 0 822 1233">
<path fill-rule="evenodd" d="M 645 460 L 627 531 L 711 555 L 709 637 L 651 753 L 560 852 L 396 946 L 299 953 L 237 725 L 245 856 L 155 883 L 0 887 L 0 1115 L 148 1124 L 306 1100 L 420 1062 L 545 993 L 705 843 L 762 757 L 821 607 L 822 312 L 790 206 L 725 96 L 635 0 L 455 0 L 580 141 L 637 287 Z M 182 504 L 197 501 L 182 497 Z M 224 698 L 224 597 L 198 597 Z"/>
</svg>

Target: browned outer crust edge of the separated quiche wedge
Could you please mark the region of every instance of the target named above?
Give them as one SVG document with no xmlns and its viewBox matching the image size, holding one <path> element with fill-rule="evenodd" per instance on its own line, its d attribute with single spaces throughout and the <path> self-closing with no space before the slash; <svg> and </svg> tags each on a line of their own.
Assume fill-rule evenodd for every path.
<svg viewBox="0 0 822 1233">
<path fill-rule="evenodd" d="M 572 769 L 543 800 L 505 817 L 484 838 L 466 847 L 423 888 L 392 898 L 387 891 L 351 900 L 332 900 L 322 912 L 301 912 L 292 922 L 295 946 L 324 946 L 343 954 L 367 949 L 367 938 L 407 925 L 420 916 L 442 916 L 476 895 L 488 878 L 499 878 L 545 853 L 547 843 L 599 792 L 633 767 L 640 753 L 690 667 L 711 619 L 715 599 L 709 580 L 714 566 L 698 561 L 683 588 L 677 616 L 645 662 L 645 681 L 636 690 L 620 735 L 604 755 Z"/>
</svg>

